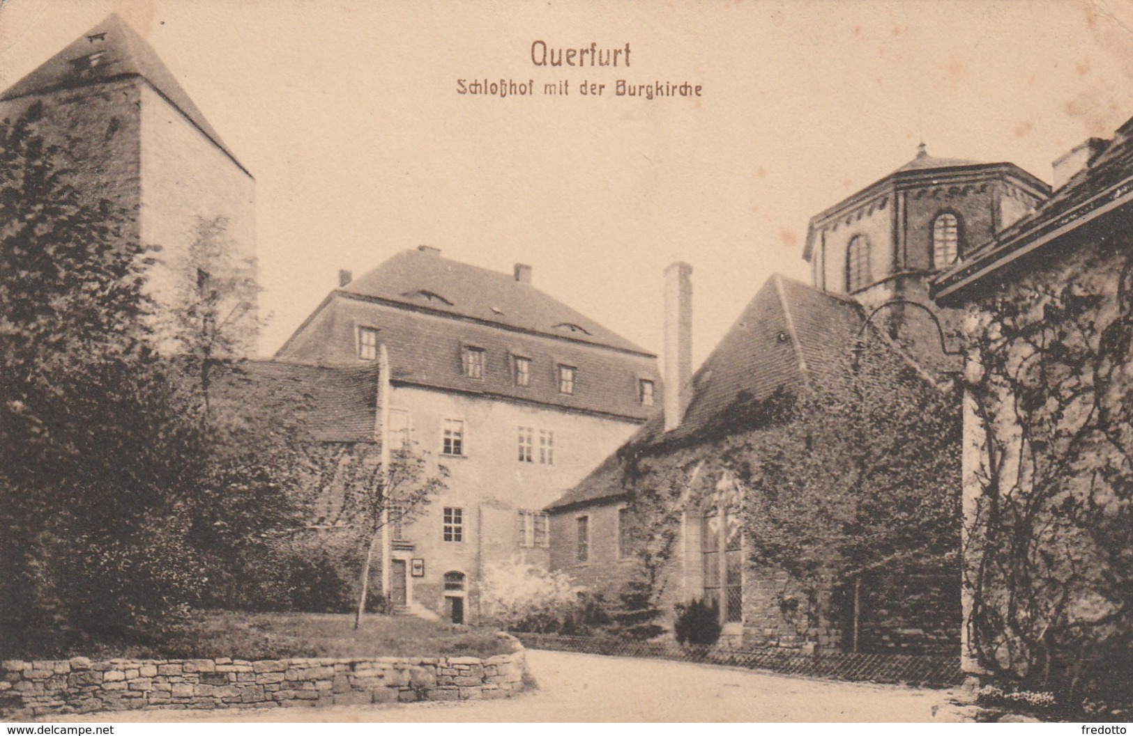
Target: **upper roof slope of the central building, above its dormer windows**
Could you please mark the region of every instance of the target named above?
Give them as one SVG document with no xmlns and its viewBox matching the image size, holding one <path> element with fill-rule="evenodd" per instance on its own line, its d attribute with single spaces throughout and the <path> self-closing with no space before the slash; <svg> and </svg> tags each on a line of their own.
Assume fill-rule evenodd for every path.
<svg viewBox="0 0 1133 736">
<path fill-rule="evenodd" d="M 403 250 L 341 291 L 579 342 L 650 354 L 511 274 Z"/>
</svg>

